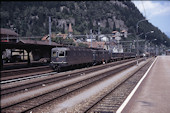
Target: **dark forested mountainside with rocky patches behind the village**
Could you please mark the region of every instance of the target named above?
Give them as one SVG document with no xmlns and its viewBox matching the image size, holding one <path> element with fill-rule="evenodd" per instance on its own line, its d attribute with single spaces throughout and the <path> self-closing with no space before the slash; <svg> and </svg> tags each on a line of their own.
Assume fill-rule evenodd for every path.
<svg viewBox="0 0 170 113">
<path fill-rule="evenodd" d="M 136 23 L 144 19 L 132 2 L 127 1 L 61 1 L 61 2 L 1 2 L 1 28 L 15 29 L 21 36 L 43 36 L 48 34 L 48 16 L 52 16 L 52 32 L 67 33 L 71 23 L 74 34 L 86 34 L 90 29 L 101 33 L 113 30 L 136 31 Z M 139 33 L 148 34 L 149 40 L 157 38 L 160 45 L 170 39 L 148 21 L 141 22 Z"/>
</svg>

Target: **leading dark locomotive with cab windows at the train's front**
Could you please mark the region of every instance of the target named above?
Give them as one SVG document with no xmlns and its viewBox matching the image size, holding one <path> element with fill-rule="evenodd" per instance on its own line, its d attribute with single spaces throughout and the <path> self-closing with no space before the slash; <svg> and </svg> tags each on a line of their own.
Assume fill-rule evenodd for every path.
<svg viewBox="0 0 170 113">
<path fill-rule="evenodd" d="M 50 66 L 55 71 L 61 67 L 79 64 L 90 64 L 93 62 L 93 54 L 90 49 L 77 47 L 56 47 L 52 49 Z"/>
</svg>

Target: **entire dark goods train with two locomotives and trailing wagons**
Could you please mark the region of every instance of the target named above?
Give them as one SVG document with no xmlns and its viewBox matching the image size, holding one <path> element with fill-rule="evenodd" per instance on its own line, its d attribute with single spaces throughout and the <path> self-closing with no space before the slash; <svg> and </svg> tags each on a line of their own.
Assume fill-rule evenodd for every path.
<svg viewBox="0 0 170 113">
<path fill-rule="evenodd" d="M 51 51 L 50 67 L 59 72 L 62 67 L 96 65 L 135 57 L 134 53 L 110 53 L 103 49 L 56 47 Z"/>
</svg>

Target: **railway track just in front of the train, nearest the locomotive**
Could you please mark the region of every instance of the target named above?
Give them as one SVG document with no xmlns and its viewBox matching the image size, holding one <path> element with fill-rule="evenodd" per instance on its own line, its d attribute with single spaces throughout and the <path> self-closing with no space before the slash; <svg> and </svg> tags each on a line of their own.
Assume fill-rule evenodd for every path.
<svg viewBox="0 0 170 113">
<path fill-rule="evenodd" d="M 60 82 L 60 81 L 68 80 L 68 79 L 71 79 L 71 78 L 75 78 L 77 76 L 80 76 L 81 74 L 88 74 L 88 73 L 91 73 L 91 72 L 94 72 L 94 71 L 97 71 L 97 70 L 101 70 L 101 69 L 108 68 L 110 66 L 115 66 L 115 65 L 118 65 L 118 64 L 126 63 L 126 62 L 129 62 L 129 61 L 132 61 L 132 60 L 133 59 L 124 60 L 124 61 L 118 61 L 118 62 L 106 64 L 106 65 L 103 65 L 103 66 L 102 65 L 95 66 L 95 67 L 92 67 L 90 69 L 82 70 L 80 72 L 73 72 L 73 73 L 64 74 L 64 75 L 61 75 L 61 76 L 51 76 L 51 77 L 45 78 L 43 80 L 38 80 L 38 81 L 29 82 L 29 83 L 19 84 L 17 86 L 12 85 L 11 87 L 5 87 L 5 88 L 2 87 L 1 88 L 1 96 L 8 95 L 8 94 L 11 94 L 11 93 L 16 93 L 16 92 L 22 93 L 22 92 L 25 91 L 25 89 L 31 90 L 33 88 L 35 89 L 35 88 L 38 88 L 38 87 L 42 87 L 43 84 L 45 84 L 45 85 L 54 84 L 56 82 Z M 56 73 L 52 73 L 52 74 L 56 74 Z M 25 80 L 24 78 L 22 78 L 22 79 Z M 28 79 L 30 79 L 30 78 L 28 78 Z M 3 81 L 3 82 L 4 83 L 9 83 L 10 81 L 9 82 L 8 81 Z"/>
</svg>

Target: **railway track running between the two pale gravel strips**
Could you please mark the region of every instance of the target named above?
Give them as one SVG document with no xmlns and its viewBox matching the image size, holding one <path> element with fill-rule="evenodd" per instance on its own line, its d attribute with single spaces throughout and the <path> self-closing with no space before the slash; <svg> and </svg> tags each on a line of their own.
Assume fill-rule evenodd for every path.
<svg viewBox="0 0 170 113">
<path fill-rule="evenodd" d="M 142 61 L 141 59 L 140 61 Z M 51 89 L 51 91 L 48 91 L 46 93 L 40 94 L 40 95 L 34 95 L 34 97 L 31 97 L 29 99 L 25 99 L 20 102 L 12 103 L 10 105 L 2 105 L 1 110 L 2 112 L 30 112 L 30 110 L 37 108 L 39 106 L 42 106 L 44 104 L 48 104 L 49 102 L 64 98 L 65 96 L 68 96 L 72 93 L 79 92 L 80 90 L 84 88 L 91 87 L 92 85 L 107 79 L 111 75 L 120 72 L 121 70 L 124 70 L 125 68 L 129 68 L 130 66 L 135 65 L 135 61 L 128 62 L 126 64 L 121 64 L 119 66 L 115 66 L 108 68 L 107 71 L 100 70 L 100 74 L 96 75 L 89 74 L 89 77 L 84 76 L 84 78 L 75 80 L 75 82 L 71 84 L 67 84 L 66 86 L 62 86 L 58 89 Z M 109 70 L 110 69 L 110 70 Z M 50 87 L 48 87 L 50 89 Z M 55 96 L 54 96 L 55 95 Z M 43 98 L 43 99 L 42 99 Z"/>
</svg>

